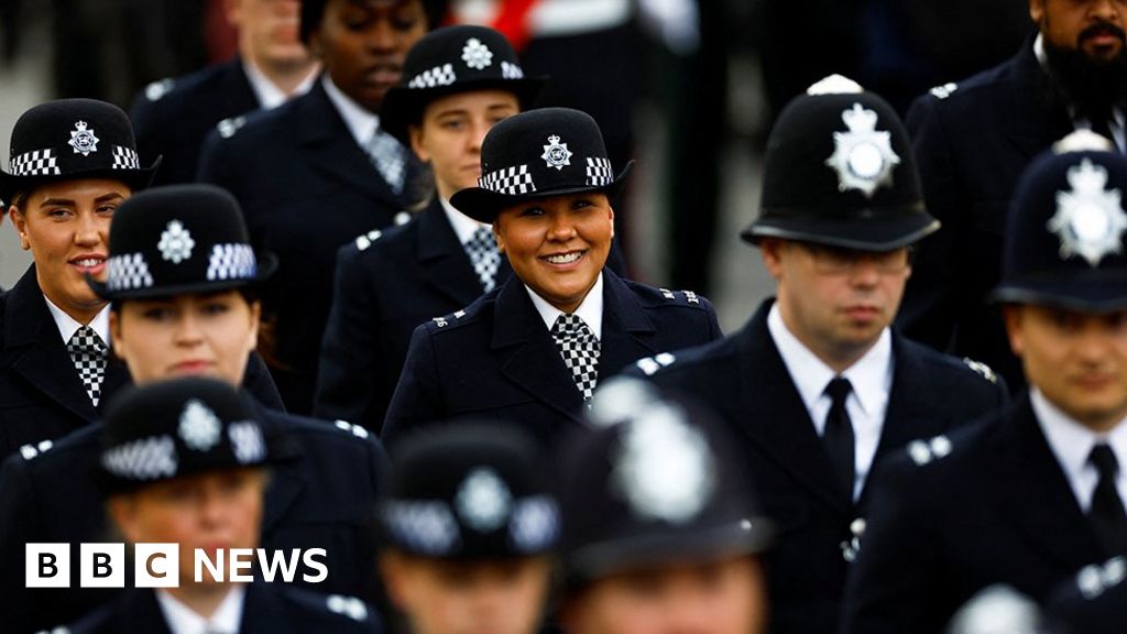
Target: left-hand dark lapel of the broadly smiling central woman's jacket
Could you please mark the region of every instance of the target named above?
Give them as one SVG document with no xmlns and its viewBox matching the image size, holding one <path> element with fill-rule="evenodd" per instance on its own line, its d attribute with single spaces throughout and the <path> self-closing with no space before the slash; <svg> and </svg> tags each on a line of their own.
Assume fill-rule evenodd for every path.
<svg viewBox="0 0 1127 634">
<path fill-rule="evenodd" d="M 575 388 L 551 333 L 516 275 L 497 294 L 490 346 L 505 378 L 549 407 L 579 420 L 583 395 Z"/>
</svg>

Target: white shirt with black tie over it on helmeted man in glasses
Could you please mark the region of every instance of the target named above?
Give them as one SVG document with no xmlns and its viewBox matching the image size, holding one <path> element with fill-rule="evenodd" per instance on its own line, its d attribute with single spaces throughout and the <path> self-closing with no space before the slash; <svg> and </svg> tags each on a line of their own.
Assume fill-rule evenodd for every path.
<svg viewBox="0 0 1127 634">
<path fill-rule="evenodd" d="M 826 414 L 829 413 L 833 403 L 826 394 L 826 386 L 837 373 L 790 332 L 782 320 L 778 303 L 767 312 L 767 331 L 806 405 L 806 411 L 810 414 L 814 430 L 819 437 L 823 435 L 826 430 Z M 893 388 L 893 336 L 888 328 L 885 328 L 869 352 L 842 372 L 853 386 L 853 390 L 845 398 L 845 411 L 849 413 L 850 422 L 853 423 L 854 500 L 861 495 L 864 479 L 872 467 L 872 459 L 877 456 L 880 432 L 885 426 L 885 413 L 888 410 L 888 393 Z"/>
</svg>

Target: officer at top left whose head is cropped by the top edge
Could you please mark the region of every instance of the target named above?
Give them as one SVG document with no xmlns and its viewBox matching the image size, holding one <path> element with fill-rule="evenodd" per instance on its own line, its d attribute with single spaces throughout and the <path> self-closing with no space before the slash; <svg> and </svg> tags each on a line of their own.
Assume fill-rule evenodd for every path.
<svg viewBox="0 0 1127 634">
<path fill-rule="evenodd" d="M 192 74 L 154 81 L 130 109 L 141 156 L 165 157 L 154 185 L 194 180 L 199 147 L 216 124 L 231 130 L 241 115 L 304 95 L 318 76 L 317 61 L 298 37 L 298 0 L 222 5 L 237 33 L 238 55 Z"/>
</svg>

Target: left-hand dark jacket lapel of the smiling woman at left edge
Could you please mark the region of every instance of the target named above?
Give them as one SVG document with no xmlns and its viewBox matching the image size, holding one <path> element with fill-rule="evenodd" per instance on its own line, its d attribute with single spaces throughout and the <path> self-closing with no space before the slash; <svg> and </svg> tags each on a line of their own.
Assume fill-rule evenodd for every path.
<svg viewBox="0 0 1127 634">
<path fill-rule="evenodd" d="M 7 297 L 5 346 L 24 347 L 11 364 L 33 389 L 46 394 L 86 422 L 98 417 L 35 278 L 35 265 Z"/>
</svg>

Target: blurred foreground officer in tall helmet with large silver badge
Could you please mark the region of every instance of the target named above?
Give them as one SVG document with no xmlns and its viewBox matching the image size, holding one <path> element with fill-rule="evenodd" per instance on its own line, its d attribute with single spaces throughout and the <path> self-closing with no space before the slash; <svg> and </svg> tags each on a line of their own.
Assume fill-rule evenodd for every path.
<svg viewBox="0 0 1127 634">
<path fill-rule="evenodd" d="M 758 634 L 772 525 L 711 413 L 615 377 L 560 459 L 568 634 Z"/>
</svg>

